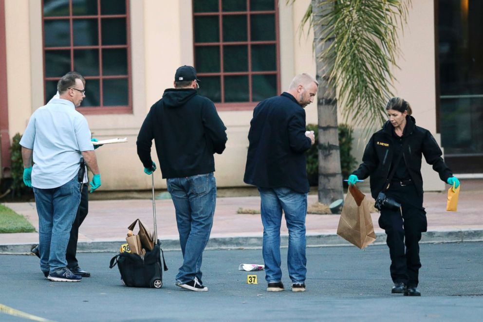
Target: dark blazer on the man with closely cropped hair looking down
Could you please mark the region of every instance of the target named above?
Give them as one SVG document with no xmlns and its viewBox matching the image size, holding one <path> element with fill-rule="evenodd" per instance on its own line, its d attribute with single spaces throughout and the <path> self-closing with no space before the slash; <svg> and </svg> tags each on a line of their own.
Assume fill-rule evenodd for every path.
<svg viewBox="0 0 483 322">
<path fill-rule="evenodd" d="M 304 152 L 311 140 L 305 136 L 305 110 L 292 95 L 284 92 L 255 107 L 248 141 L 245 183 L 309 192 Z"/>
</svg>

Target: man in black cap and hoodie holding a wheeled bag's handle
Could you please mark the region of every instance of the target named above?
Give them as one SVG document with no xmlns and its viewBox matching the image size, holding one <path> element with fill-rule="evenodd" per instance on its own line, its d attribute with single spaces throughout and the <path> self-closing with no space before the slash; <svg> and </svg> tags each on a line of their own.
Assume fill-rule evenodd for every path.
<svg viewBox="0 0 483 322">
<path fill-rule="evenodd" d="M 163 178 L 176 209 L 183 265 L 176 285 L 207 291 L 203 286 L 203 250 L 208 242 L 216 204 L 214 153 L 222 154 L 226 127 L 208 98 L 198 95 L 196 71 L 191 66 L 176 70 L 174 89 L 149 110 L 137 137 L 137 154 L 150 175 L 154 139 Z"/>
</svg>

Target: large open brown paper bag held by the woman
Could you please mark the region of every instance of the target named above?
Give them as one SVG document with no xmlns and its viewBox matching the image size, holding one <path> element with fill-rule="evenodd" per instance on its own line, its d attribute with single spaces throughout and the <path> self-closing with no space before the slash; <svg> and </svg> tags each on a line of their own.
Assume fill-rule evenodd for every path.
<svg viewBox="0 0 483 322">
<path fill-rule="evenodd" d="M 369 201 L 355 186 L 349 185 L 340 214 L 337 234 L 360 249 L 376 239 Z"/>
</svg>

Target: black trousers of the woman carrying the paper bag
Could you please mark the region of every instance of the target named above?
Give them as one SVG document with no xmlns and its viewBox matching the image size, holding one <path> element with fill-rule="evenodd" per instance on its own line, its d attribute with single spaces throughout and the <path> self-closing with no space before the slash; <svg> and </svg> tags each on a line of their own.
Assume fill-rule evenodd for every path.
<svg viewBox="0 0 483 322">
<path fill-rule="evenodd" d="M 382 209 L 379 217 L 379 227 L 388 235 L 392 281 L 416 287 L 421 268 L 419 241 L 421 233 L 427 231 L 423 196 L 418 195 L 414 185 L 397 183 L 391 183 L 386 195 L 401 203 L 402 210 Z"/>
</svg>

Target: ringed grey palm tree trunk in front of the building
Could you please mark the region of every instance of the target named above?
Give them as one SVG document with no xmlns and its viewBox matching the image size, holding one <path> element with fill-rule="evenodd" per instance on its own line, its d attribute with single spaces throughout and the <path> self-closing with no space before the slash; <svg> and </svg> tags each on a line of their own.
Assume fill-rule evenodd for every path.
<svg viewBox="0 0 483 322">
<path fill-rule="evenodd" d="M 332 10 L 333 7 L 333 4 L 320 6 L 318 2 L 320 1 L 312 0 L 314 20 L 321 18 L 326 10 Z M 337 199 L 342 199 L 344 195 L 340 171 L 335 86 L 330 86 L 327 81 L 328 73 L 332 69 L 332 62 L 325 60 L 320 55 L 332 43 L 332 40 L 322 42 L 324 27 L 321 24 L 314 24 L 316 78 L 319 82 L 317 89 L 318 201 L 328 205 Z"/>
</svg>

